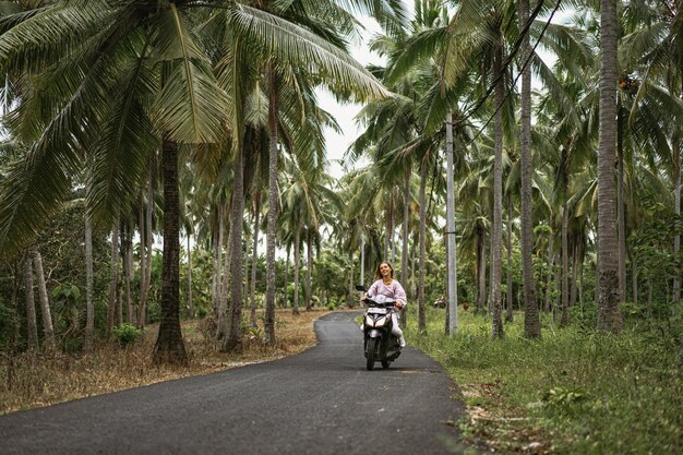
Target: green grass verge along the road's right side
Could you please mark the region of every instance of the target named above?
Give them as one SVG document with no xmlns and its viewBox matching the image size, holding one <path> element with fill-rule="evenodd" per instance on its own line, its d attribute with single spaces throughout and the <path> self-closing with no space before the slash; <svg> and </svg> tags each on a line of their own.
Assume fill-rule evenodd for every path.
<svg viewBox="0 0 683 455">
<path fill-rule="evenodd" d="M 444 310 L 428 309 L 427 335 L 411 314 L 409 344 L 439 360 L 462 390 L 470 441 L 499 453 L 683 454 L 683 374 L 671 331 L 620 335 L 543 323 L 525 339 L 524 314 L 492 340 L 489 318 L 458 314 L 443 335 Z M 578 325 L 578 324 L 577 324 Z"/>
</svg>

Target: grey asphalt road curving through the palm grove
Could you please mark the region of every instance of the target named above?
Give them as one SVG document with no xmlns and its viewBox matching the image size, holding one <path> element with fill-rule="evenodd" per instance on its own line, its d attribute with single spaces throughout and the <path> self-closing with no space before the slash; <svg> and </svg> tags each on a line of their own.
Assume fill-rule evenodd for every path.
<svg viewBox="0 0 683 455">
<path fill-rule="evenodd" d="M 2 416 L 0 454 L 456 453 L 445 371 L 410 346 L 367 371 L 356 314 L 295 357 Z"/>
</svg>

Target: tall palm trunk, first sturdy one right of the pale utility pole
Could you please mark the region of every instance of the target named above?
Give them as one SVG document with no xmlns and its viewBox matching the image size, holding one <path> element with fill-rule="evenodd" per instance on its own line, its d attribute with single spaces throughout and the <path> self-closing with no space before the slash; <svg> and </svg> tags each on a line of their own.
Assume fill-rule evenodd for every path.
<svg viewBox="0 0 683 455">
<path fill-rule="evenodd" d="M 502 71 L 503 45 L 502 38 L 499 37 L 499 44 L 495 49 L 493 59 L 493 73 L 500 74 Z M 502 338 L 503 319 L 502 319 L 502 267 L 501 261 L 503 256 L 502 244 L 502 212 L 503 212 L 503 110 L 500 108 L 504 100 L 504 77 L 500 77 L 495 87 L 495 106 L 499 108 L 495 113 L 495 152 L 493 157 L 493 223 L 491 226 L 491 309 L 492 324 L 491 336 L 493 338 Z"/>
</svg>

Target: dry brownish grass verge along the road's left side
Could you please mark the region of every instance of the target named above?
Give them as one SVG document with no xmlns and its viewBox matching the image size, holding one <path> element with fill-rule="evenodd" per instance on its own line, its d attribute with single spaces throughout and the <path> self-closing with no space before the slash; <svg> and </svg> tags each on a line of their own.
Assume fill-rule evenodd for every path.
<svg viewBox="0 0 683 455">
<path fill-rule="evenodd" d="M 291 356 L 315 345 L 313 322 L 326 313 L 326 310 L 301 311 L 293 316 L 291 310 L 278 310 L 277 343 L 264 346 L 260 325 L 245 333 L 243 351 L 239 355 L 220 352 L 220 343 L 213 337 L 213 327 L 206 321 L 184 322 L 183 336 L 190 358 L 185 367 L 152 363 L 156 326 L 147 327 L 144 338 L 125 349 L 108 345 L 81 356 L 38 352 L 5 356 L 0 364 L 0 415 Z"/>
</svg>

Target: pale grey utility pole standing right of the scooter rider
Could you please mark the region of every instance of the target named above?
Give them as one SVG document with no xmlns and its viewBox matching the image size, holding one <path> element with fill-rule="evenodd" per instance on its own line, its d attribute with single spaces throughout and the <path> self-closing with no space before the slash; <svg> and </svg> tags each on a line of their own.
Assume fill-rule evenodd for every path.
<svg viewBox="0 0 683 455">
<path fill-rule="evenodd" d="M 453 112 L 446 111 L 446 254 L 448 290 L 448 335 L 458 328 L 457 271 L 455 258 L 455 191 L 453 188 Z"/>
</svg>

